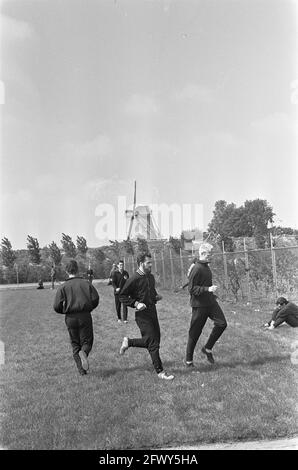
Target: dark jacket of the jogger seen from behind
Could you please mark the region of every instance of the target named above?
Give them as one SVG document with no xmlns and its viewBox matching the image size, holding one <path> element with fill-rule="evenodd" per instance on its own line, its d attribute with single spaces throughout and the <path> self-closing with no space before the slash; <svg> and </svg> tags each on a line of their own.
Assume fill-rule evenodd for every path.
<svg viewBox="0 0 298 470">
<path fill-rule="evenodd" d="M 58 287 L 54 310 L 64 314 L 88 313 L 95 309 L 98 303 L 98 292 L 87 279 L 71 277 Z"/>
</svg>

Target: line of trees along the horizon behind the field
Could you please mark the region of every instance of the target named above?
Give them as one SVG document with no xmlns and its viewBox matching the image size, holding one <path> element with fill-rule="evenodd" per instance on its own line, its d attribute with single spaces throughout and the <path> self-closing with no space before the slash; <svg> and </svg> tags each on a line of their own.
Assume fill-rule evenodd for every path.
<svg viewBox="0 0 298 470">
<path fill-rule="evenodd" d="M 216 201 L 213 217 L 204 232 L 203 238 L 213 243 L 217 250 L 233 252 L 239 248 L 237 239 L 249 237 L 254 240 L 256 248 L 265 248 L 268 245 L 269 234 L 273 237 L 291 235 L 298 241 L 298 230 L 290 227 L 274 226 L 275 213 L 266 200 L 247 200 L 239 207 L 234 203 L 224 200 Z M 40 248 L 38 239 L 32 235 L 27 236 L 27 250 L 13 250 L 11 242 L 4 237 L 1 240 L 2 269 L 0 282 L 12 282 L 15 278 L 15 270 L 19 272 L 20 282 L 34 282 L 36 276 L 43 276 L 46 280 L 50 276 L 51 266 L 54 265 L 63 278 L 62 263 L 70 258 L 76 258 L 81 272 L 92 265 L 95 275 L 99 278 L 108 277 L 113 262 L 126 256 L 134 256 L 140 251 L 148 250 L 147 240 L 138 238 L 132 240 L 110 240 L 110 245 L 99 248 L 89 248 L 87 240 L 83 236 L 77 236 L 76 241 L 72 237 L 62 233 L 59 247 L 55 241 Z M 183 233 L 180 238 L 169 237 L 166 244 L 176 253 L 184 250 L 185 239 Z M 153 251 L 158 253 L 163 244 L 156 245 Z M 152 248 L 150 246 L 152 251 Z M 43 269 L 43 272 L 41 272 Z M 5 279 L 4 279 L 5 278 Z M 34 278 L 34 281 L 28 279 Z"/>
</svg>

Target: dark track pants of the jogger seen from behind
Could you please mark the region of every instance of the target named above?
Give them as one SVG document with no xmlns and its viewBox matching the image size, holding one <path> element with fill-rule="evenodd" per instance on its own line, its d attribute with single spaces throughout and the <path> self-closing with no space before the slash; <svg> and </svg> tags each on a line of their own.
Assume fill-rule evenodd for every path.
<svg viewBox="0 0 298 470">
<path fill-rule="evenodd" d="M 71 313 L 65 315 L 65 323 L 68 329 L 73 356 L 79 351 L 90 353 L 93 345 L 93 324 L 91 313 Z"/>
</svg>

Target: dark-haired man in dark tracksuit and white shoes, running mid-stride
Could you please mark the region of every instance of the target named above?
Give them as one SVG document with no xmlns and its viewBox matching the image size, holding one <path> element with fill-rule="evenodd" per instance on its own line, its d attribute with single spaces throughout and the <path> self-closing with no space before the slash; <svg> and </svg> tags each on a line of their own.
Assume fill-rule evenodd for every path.
<svg viewBox="0 0 298 470">
<path fill-rule="evenodd" d="M 155 279 L 151 274 L 151 255 L 138 256 L 138 270 L 129 278 L 120 291 L 120 302 L 135 308 L 135 320 L 141 331 L 141 338 L 123 338 L 120 354 L 128 348 L 146 348 L 149 351 L 153 367 L 160 379 L 172 380 L 173 375 L 167 374 L 159 356 L 160 328 L 156 311 L 156 302 L 161 296 L 155 290 Z"/>
</svg>

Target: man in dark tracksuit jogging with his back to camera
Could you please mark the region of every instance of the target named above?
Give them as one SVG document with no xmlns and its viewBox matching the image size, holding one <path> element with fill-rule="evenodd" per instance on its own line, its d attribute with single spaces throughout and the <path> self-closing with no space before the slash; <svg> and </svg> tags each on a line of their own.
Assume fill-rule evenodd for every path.
<svg viewBox="0 0 298 470">
<path fill-rule="evenodd" d="M 77 276 L 78 265 L 70 260 L 66 266 L 69 279 L 59 286 L 54 310 L 65 314 L 73 350 L 73 358 L 81 375 L 89 369 L 88 355 L 93 345 L 93 325 L 91 311 L 99 303 L 99 295 L 95 287 L 87 279 Z"/>
</svg>

